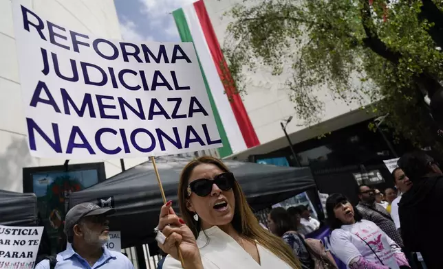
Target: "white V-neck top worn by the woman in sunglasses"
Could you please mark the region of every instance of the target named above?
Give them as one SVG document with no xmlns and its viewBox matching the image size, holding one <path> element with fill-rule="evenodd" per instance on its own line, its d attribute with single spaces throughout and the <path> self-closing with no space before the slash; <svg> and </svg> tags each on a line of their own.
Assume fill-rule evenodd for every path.
<svg viewBox="0 0 443 269">
<path fill-rule="evenodd" d="M 205 235 L 206 234 L 206 235 Z M 208 238 L 206 238 L 206 236 Z M 260 263 L 257 264 L 244 248 L 227 233 L 213 226 L 201 231 L 197 238 L 197 246 L 200 249 L 204 269 L 290 269 L 291 267 L 275 256 L 268 249 L 257 244 Z M 182 268 L 180 261 L 168 255 L 164 261 L 163 269 Z"/>
</svg>

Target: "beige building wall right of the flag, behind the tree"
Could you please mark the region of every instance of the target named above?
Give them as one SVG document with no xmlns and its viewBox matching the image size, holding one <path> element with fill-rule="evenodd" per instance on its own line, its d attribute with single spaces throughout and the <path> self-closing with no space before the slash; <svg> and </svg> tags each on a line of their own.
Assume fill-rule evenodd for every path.
<svg viewBox="0 0 443 269">
<path fill-rule="evenodd" d="M 226 26 L 230 21 L 230 19 L 223 16 L 223 14 L 230 10 L 235 3 L 242 3 L 242 0 L 205 0 L 204 3 L 219 43 L 223 45 L 226 36 Z M 290 75 L 288 72 L 283 72 L 282 75 L 274 76 L 271 75 L 269 69 L 266 67 L 260 67 L 256 73 L 251 72 L 247 75 L 247 95 L 243 97 L 244 105 L 262 145 L 272 143 L 277 139 L 282 141 L 281 137 L 283 137 L 284 134 L 283 130 L 281 130 L 280 122 L 290 116 L 293 116 L 294 119 L 292 119 L 288 125 L 287 131 L 292 134 L 292 143 L 310 139 L 316 137 L 319 133 L 321 134 L 322 132 L 332 130 L 330 124 L 320 124 L 317 126 L 317 129 L 312 132 L 310 132 L 306 126 L 299 126 L 302 125 L 303 122 L 297 117 L 294 110 L 294 103 L 292 103 L 288 97 L 288 87 L 285 86 L 285 81 L 290 78 Z M 356 81 L 355 83 L 358 82 Z M 364 115 L 362 115 L 363 117 L 355 117 L 356 114 L 351 113 L 360 108 L 360 104 L 347 106 L 343 101 L 334 101 L 327 88 L 317 89 L 315 94 L 325 104 L 324 112 L 320 115 L 322 122 L 344 115 L 353 115 L 349 117 L 349 121 L 347 121 L 347 125 L 351 125 L 365 118 Z M 341 122 L 343 122 L 343 119 Z M 343 128 L 344 126 L 337 127 Z M 303 135 L 297 135 L 297 133 L 301 131 L 303 131 Z M 283 142 L 278 144 L 279 145 L 276 144 L 275 147 L 269 145 L 267 145 L 267 147 L 270 151 L 277 150 L 279 149 L 278 147 L 287 146 L 287 141 L 283 139 Z M 255 154 L 259 153 L 265 152 L 261 152 L 261 150 L 255 152 Z"/>
</svg>

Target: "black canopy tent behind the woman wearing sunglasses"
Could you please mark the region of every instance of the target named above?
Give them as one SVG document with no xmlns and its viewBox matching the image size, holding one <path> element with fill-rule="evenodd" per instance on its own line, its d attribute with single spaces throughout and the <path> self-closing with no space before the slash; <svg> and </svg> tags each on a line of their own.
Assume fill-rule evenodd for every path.
<svg viewBox="0 0 443 269">
<path fill-rule="evenodd" d="M 166 198 L 173 200 L 177 211 L 177 183 L 190 157 L 156 158 Z M 256 211 L 314 190 L 316 185 L 309 168 L 277 167 L 257 163 L 224 161 L 235 174 L 250 206 Z M 69 208 L 80 202 L 112 205 L 117 212 L 110 218 L 112 231 L 121 231 L 122 248 L 153 241 L 162 197 L 150 161 L 122 172 L 69 197 Z"/>
</svg>

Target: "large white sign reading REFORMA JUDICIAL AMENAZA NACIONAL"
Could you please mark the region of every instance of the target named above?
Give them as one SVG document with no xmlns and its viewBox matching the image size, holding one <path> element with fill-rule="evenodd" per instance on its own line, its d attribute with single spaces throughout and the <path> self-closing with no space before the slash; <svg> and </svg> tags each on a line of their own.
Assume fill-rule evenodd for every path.
<svg viewBox="0 0 443 269">
<path fill-rule="evenodd" d="M 111 159 L 222 146 L 192 43 L 131 43 L 12 1 L 32 156 Z"/>
</svg>

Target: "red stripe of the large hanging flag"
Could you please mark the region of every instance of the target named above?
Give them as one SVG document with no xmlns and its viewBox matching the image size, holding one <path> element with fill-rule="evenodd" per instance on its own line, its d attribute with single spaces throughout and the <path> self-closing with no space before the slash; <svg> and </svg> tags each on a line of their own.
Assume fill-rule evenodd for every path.
<svg viewBox="0 0 443 269">
<path fill-rule="evenodd" d="M 217 36 L 215 35 L 213 25 L 212 23 L 210 23 L 208 12 L 206 11 L 203 0 L 195 2 L 194 8 L 195 12 L 197 13 L 200 25 L 202 25 L 202 30 L 206 39 L 206 43 L 208 43 L 210 54 L 213 56 L 215 67 L 217 67 L 220 79 L 222 80 L 222 82 L 232 81 L 228 65 L 226 64 L 226 60 L 224 60 L 222 49 L 220 48 L 219 41 L 217 39 Z M 224 70 L 222 70 L 222 66 Z M 237 93 L 235 86 L 233 86 L 232 83 L 223 84 L 227 95 L 226 98 L 228 98 L 228 100 L 230 101 L 230 107 L 233 109 L 235 119 L 237 119 L 237 124 L 239 125 L 246 146 L 248 148 L 252 148 L 255 145 L 259 145 L 259 138 L 255 133 L 254 126 L 252 126 L 250 122 L 248 113 L 246 112 L 245 106 L 241 101 L 241 97 L 239 93 Z"/>
</svg>

